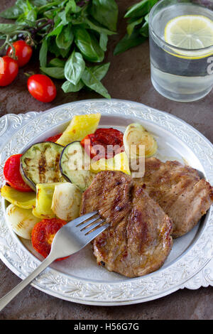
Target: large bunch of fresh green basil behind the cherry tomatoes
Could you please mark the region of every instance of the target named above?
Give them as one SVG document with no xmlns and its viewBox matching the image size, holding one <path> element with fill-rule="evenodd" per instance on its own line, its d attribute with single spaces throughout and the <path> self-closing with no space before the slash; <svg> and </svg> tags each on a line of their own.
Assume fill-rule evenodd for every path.
<svg viewBox="0 0 213 334">
<path fill-rule="evenodd" d="M 38 48 L 41 72 L 65 80 L 64 92 L 87 87 L 110 98 L 101 82 L 109 63 L 91 63 L 102 63 L 116 33 L 115 0 L 16 0 L 0 16 L 15 20 L 0 24 L 2 48 L 24 39 Z"/>
</svg>

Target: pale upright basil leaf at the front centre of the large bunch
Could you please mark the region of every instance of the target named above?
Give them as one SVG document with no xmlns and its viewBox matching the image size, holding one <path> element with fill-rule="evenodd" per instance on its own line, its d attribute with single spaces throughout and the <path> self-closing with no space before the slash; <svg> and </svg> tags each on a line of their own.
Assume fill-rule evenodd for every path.
<svg viewBox="0 0 213 334">
<path fill-rule="evenodd" d="M 81 53 L 74 50 L 65 64 L 65 78 L 72 82 L 73 85 L 77 85 L 82 77 L 84 68 L 85 63 Z"/>
</svg>

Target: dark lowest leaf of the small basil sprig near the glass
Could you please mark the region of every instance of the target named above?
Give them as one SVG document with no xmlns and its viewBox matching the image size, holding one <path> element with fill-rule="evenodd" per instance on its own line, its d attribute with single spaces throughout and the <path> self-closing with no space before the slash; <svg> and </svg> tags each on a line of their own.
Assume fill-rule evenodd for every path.
<svg viewBox="0 0 213 334">
<path fill-rule="evenodd" d="M 144 36 L 141 36 L 138 31 L 133 31 L 131 33 L 131 36 L 126 34 L 124 38 L 119 41 L 119 43 L 114 48 L 114 55 L 119 55 L 119 53 L 122 53 L 126 50 L 129 50 L 130 48 L 133 48 L 137 45 L 140 45 L 146 41 L 146 38 Z"/>
</svg>

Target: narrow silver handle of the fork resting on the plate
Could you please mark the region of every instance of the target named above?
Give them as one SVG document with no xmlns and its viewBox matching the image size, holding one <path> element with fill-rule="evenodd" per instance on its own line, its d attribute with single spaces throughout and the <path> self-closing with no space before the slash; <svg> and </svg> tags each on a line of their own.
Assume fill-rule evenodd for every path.
<svg viewBox="0 0 213 334">
<path fill-rule="evenodd" d="M 26 279 L 23 279 L 23 281 L 21 281 L 21 283 L 9 291 L 9 293 L 6 293 L 4 297 L 0 298 L 0 311 L 54 260 L 55 259 L 49 254 L 48 257 L 46 257 L 43 262 L 41 262 L 41 264 L 29 276 L 26 277 Z"/>
</svg>

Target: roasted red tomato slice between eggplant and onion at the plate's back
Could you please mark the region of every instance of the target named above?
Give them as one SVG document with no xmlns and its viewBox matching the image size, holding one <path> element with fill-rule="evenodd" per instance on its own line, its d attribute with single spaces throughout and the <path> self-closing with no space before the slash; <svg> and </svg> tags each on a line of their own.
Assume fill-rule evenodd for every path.
<svg viewBox="0 0 213 334">
<path fill-rule="evenodd" d="M 116 129 L 97 129 L 94 134 L 88 134 L 82 139 L 84 150 L 94 160 L 100 158 L 113 158 L 116 154 L 124 152 L 124 134 Z"/>
</svg>

